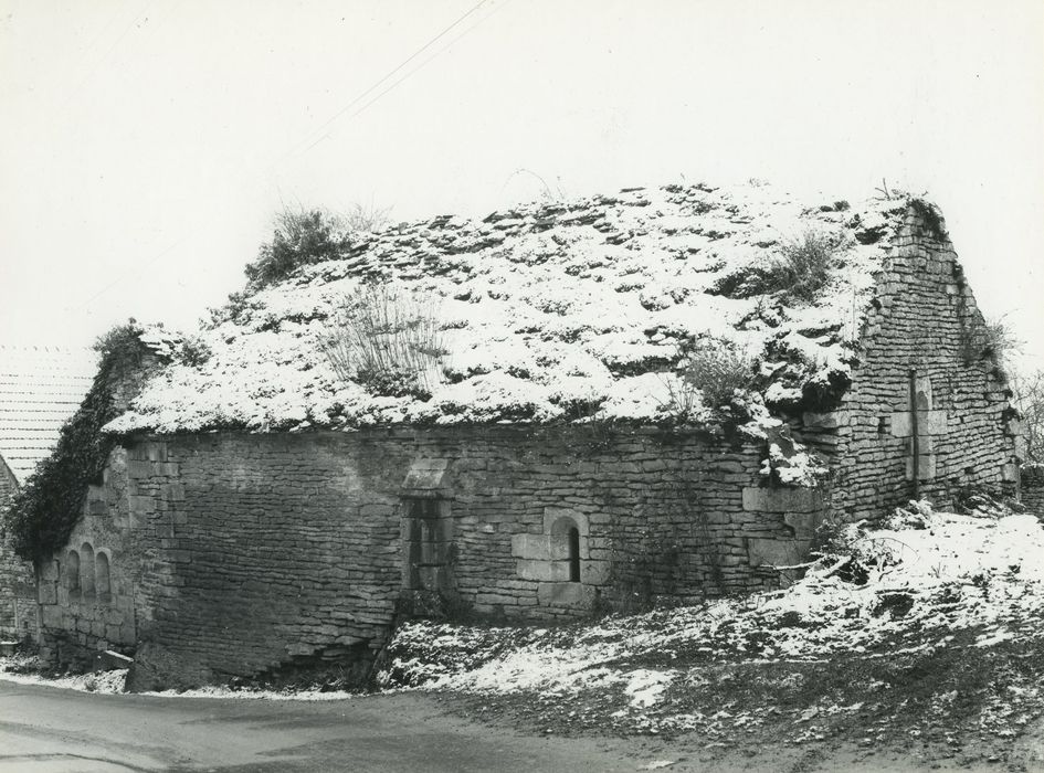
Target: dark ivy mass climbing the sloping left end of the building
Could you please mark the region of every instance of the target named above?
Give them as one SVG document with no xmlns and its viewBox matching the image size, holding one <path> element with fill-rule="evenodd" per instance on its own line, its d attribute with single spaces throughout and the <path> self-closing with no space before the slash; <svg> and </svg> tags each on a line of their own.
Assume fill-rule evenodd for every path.
<svg viewBox="0 0 1044 773">
<path fill-rule="evenodd" d="M 87 486 L 102 479 L 115 441 L 102 427 L 116 417 L 113 389 L 138 370 L 147 349 L 133 319 L 99 338 L 98 372 L 76 413 L 65 423 L 51 456 L 29 476 L 4 513 L 3 531 L 14 552 L 34 562 L 62 549 L 83 513 Z"/>
</svg>

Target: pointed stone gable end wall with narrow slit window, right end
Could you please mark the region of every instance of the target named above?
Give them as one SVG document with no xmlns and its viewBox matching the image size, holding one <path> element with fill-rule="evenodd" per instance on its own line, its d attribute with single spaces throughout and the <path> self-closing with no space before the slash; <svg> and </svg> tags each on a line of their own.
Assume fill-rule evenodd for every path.
<svg viewBox="0 0 1044 773">
<path fill-rule="evenodd" d="M 853 386 L 837 410 L 805 414 L 800 433 L 835 458 L 835 511 L 887 515 L 913 497 L 915 468 L 919 496 L 940 506 L 963 486 L 1014 494 L 1017 423 L 952 245 L 911 209 L 876 278 Z"/>
</svg>

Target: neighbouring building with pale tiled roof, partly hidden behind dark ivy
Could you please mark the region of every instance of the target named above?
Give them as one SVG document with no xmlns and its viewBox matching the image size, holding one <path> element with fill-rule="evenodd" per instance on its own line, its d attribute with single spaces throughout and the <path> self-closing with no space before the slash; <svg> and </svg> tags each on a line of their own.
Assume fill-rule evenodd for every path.
<svg viewBox="0 0 1044 773">
<path fill-rule="evenodd" d="M 0 345 L 0 510 L 44 458 L 91 386 L 89 352 Z M 36 627 L 32 566 L 0 539 L 0 639 Z"/>
</svg>

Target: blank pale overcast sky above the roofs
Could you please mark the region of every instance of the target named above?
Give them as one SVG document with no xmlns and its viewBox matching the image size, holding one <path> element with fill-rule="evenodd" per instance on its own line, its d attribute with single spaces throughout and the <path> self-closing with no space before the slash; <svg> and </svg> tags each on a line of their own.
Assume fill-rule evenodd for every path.
<svg viewBox="0 0 1044 773">
<path fill-rule="evenodd" d="M 1044 356 L 1040 0 L 0 0 L 0 340 L 193 325 L 283 202 L 927 191 Z"/>
</svg>

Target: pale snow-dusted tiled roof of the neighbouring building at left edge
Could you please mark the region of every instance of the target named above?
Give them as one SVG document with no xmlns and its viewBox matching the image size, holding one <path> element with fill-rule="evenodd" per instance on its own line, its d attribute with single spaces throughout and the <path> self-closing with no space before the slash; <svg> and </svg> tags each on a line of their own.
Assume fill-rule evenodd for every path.
<svg viewBox="0 0 1044 773">
<path fill-rule="evenodd" d="M 19 484 L 51 453 L 96 369 L 89 350 L 0 345 L 0 457 Z"/>
</svg>

